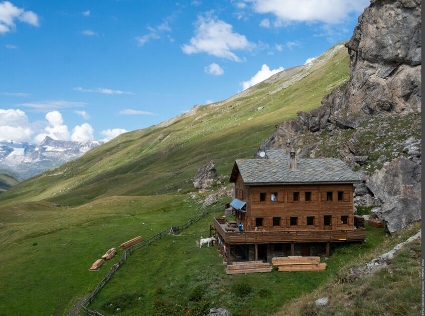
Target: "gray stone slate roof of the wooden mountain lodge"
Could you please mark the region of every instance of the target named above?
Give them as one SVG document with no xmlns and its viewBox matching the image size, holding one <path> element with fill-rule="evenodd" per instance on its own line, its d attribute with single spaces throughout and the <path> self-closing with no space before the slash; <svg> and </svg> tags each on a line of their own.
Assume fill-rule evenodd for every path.
<svg viewBox="0 0 425 316">
<path fill-rule="evenodd" d="M 239 170 L 245 184 L 360 182 L 359 176 L 339 159 L 297 158 L 298 170 L 291 170 L 285 150 L 267 150 L 266 155 L 262 159 L 238 159 L 233 169 Z"/>
</svg>

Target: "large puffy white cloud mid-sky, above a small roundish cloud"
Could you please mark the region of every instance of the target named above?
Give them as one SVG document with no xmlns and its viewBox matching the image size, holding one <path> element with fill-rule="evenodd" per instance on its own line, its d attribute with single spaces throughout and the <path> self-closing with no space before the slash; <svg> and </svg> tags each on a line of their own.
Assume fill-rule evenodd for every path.
<svg viewBox="0 0 425 316">
<path fill-rule="evenodd" d="M 244 35 L 233 32 L 233 26 L 217 20 L 211 14 L 199 15 L 195 23 L 194 36 L 190 44 L 182 46 L 185 54 L 207 53 L 233 61 L 241 61 L 233 50 L 247 50 L 255 47 Z"/>
</svg>

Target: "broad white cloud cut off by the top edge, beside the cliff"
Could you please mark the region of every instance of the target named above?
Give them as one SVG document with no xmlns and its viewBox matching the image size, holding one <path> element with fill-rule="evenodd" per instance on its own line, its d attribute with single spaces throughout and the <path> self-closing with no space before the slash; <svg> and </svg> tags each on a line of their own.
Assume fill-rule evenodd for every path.
<svg viewBox="0 0 425 316">
<path fill-rule="evenodd" d="M 276 17 L 275 26 L 292 21 L 337 24 L 368 5 L 369 0 L 252 0 L 255 12 Z"/>
</svg>

